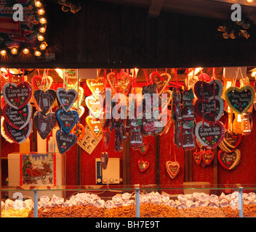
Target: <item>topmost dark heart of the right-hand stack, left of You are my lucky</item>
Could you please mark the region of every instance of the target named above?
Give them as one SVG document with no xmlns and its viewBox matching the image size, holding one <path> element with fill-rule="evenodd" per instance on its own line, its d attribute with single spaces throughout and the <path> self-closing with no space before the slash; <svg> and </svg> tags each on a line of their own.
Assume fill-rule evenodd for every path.
<svg viewBox="0 0 256 232">
<path fill-rule="evenodd" d="M 215 96 L 221 96 L 223 94 L 223 83 L 220 80 L 211 80 L 209 83 L 199 80 L 196 81 L 193 88 L 194 93 L 198 99 L 209 99 L 214 96 L 213 86 L 215 84 Z"/>
</svg>

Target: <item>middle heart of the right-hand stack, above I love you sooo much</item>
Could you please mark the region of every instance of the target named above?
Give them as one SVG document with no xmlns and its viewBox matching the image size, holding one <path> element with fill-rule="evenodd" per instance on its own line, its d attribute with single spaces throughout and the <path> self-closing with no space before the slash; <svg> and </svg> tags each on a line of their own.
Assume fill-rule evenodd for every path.
<svg viewBox="0 0 256 232">
<path fill-rule="evenodd" d="M 196 114 L 207 122 L 219 120 L 224 111 L 224 100 L 220 96 L 211 96 L 207 100 L 197 99 L 195 104 Z"/>
</svg>

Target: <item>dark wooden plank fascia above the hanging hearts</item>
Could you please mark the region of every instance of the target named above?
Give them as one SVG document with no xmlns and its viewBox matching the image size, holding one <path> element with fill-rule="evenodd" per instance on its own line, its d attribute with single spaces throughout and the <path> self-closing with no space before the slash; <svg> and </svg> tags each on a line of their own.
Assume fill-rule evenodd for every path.
<svg viewBox="0 0 256 232">
<path fill-rule="evenodd" d="M 85 1 L 77 14 L 58 4 L 46 6 L 47 52 L 56 60 L 0 57 L 6 67 L 223 67 L 254 66 L 256 33 L 250 38 L 224 39 L 220 20 L 148 9 Z"/>
</svg>

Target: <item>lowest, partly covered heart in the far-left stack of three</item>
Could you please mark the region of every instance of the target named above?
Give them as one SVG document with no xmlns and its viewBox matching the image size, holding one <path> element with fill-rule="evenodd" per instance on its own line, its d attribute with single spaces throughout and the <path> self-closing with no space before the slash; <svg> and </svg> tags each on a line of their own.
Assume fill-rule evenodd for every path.
<svg viewBox="0 0 256 232">
<path fill-rule="evenodd" d="M 14 141 L 16 144 L 22 144 L 28 136 L 31 134 L 32 129 L 32 120 L 28 123 L 28 125 L 25 126 L 25 128 L 21 130 L 17 130 L 16 128 L 13 128 L 11 125 L 7 123 L 6 120 L 4 120 L 4 133 L 5 135 Z"/>
</svg>

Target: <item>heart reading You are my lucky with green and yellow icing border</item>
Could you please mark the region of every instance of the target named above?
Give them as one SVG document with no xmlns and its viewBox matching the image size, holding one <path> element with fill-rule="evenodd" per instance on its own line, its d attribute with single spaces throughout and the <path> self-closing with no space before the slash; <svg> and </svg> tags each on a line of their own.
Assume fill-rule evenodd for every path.
<svg viewBox="0 0 256 232">
<path fill-rule="evenodd" d="M 225 101 L 238 114 L 247 112 L 255 99 L 255 90 L 252 86 L 229 87 L 225 91 Z"/>
</svg>

